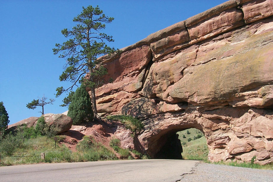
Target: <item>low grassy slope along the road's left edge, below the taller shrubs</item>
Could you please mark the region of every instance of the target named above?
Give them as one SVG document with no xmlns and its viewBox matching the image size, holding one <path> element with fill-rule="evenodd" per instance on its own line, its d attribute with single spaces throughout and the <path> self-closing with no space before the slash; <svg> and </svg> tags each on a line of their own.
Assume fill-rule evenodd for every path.
<svg viewBox="0 0 273 182">
<path fill-rule="evenodd" d="M 57 136 L 60 140 L 64 136 Z M 12 145 L 12 144 L 11 144 Z M 3 157 L 1 165 L 34 164 L 40 162 L 86 162 L 98 160 L 115 160 L 115 154 L 102 144 L 95 142 L 91 137 L 84 137 L 77 145 L 77 152 L 72 152 L 64 144 L 56 145 L 53 138 L 37 136 L 25 140 L 16 148 L 12 156 L 38 156 L 38 157 Z M 41 159 L 41 153 L 45 153 L 45 159 Z M 1 155 L 4 155 L 1 153 Z"/>
</svg>

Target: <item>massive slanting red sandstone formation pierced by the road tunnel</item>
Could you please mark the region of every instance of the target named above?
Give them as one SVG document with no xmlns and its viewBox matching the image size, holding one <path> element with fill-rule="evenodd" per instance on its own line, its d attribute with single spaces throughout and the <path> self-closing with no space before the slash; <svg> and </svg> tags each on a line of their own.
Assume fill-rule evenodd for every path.
<svg viewBox="0 0 273 182">
<path fill-rule="evenodd" d="M 272 0 L 231 0 L 104 57 L 99 113 L 138 116 L 133 148 L 151 157 L 193 127 L 210 161 L 272 162 L 272 15 Z"/>
</svg>

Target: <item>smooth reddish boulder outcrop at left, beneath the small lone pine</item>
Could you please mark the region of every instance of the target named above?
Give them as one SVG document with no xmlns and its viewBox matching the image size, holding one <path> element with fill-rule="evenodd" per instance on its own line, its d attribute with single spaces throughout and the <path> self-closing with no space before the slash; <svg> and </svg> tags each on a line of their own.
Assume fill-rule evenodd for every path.
<svg viewBox="0 0 273 182">
<path fill-rule="evenodd" d="M 68 131 L 72 126 L 72 119 L 69 116 L 64 114 L 44 114 L 45 122 L 49 126 L 53 126 L 57 131 L 57 134 Z M 39 117 L 29 117 L 27 119 L 23 119 L 17 123 L 8 125 L 7 130 L 12 131 L 15 130 L 18 126 L 26 125 L 27 127 L 35 127 L 37 124 Z"/>
</svg>

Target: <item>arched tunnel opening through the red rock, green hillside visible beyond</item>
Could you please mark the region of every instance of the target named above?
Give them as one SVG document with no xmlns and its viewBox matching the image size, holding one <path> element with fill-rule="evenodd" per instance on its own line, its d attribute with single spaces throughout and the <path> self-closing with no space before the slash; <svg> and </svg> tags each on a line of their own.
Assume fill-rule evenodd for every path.
<svg viewBox="0 0 273 182">
<path fill-rule="evenodd" d="M 161 146 L 155 159 L 208 159 L 208 145 L 203 132 L 196 128 L 173 130 L 157 141 Z"/>
</svg>

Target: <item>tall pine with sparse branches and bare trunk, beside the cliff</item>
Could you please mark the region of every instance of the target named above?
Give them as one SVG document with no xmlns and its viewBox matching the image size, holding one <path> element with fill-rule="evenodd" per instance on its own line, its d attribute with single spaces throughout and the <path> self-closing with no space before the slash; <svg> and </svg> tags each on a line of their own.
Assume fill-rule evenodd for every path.
<svg viewBox="0 0 273 182">
<path fill-rule="evenodd" d="M 76 26 L 72 30 L 67 28 L 62 30 L 62 34 L 70 39 L 62 44 L 56 44 L 56 48 L 53 49 L 55 55 L 60 53 L 59 57 L 67 61 L 65 71 L 59 78 L 60 81 L 72 82 L 72 86 L 67 89 L 58 87 L 56 96 L 71 90 L 78 82 L 84 82 L 91 89 L 92 107 L 97 118 L 99 116 L 95 87 L 103 83 L 101 76 L 107 74 L 102 60 L 98 58 L 116 51 L 105 43 L 113 42 L 112 36 L 101 32 L 105 29 L 104 23 L 111 23 L 114 18 L 102 13 L 98 6 L 83 7 L 81 14 L 73 19 L 77 23 Z"/>
</svg>

